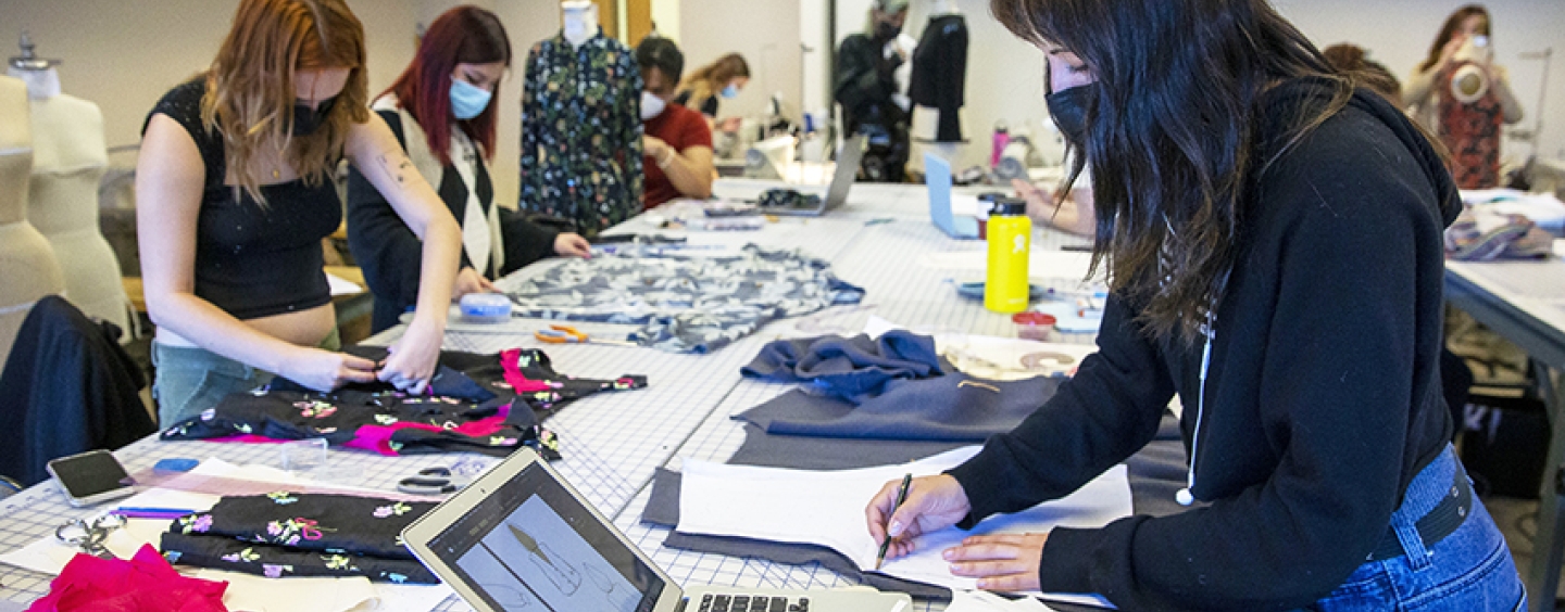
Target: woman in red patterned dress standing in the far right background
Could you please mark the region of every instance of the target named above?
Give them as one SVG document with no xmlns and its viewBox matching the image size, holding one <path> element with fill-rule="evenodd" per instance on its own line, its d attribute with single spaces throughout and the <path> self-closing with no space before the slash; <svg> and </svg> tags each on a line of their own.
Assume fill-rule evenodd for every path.
<svg viewBox="0 0 1565 612">
<path fill-rule="evenodd" d="M 1506 69 L 1493 59 L 1491 27 L 1482 5 L 1459 8 L 1402 87 L 1413 117 L 1449 150 L 1462 189 L 1499 186 L 1499 126 L 1521 120 Z"/>
</svg>

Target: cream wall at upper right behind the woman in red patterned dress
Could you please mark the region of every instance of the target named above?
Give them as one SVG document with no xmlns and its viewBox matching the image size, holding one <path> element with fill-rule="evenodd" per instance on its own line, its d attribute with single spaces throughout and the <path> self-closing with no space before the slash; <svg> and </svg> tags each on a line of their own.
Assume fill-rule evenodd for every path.
<svg viewBox="0 0 1565 612">
<path fill-rule="evenodd" d="M 1371 59 L 1405 80 L 1429 53 L 1446 16 L 1466 0 L 1274 0 L 1277 9 L 1319 47 L 1352 42 L 1371 50 Z M 1495 58 L 1510 72 L 1510 87 L 1527 114 L 1518 126 L 1532 128 L 1542 116 L 1538 155 L 1565 159 L 1565 2 L 1485 0 L 1493 17 Z M 1554 47 L 1548 75 L 1548 108 L 1538 109 L 1543 62 L 1523 59 L 1524 52 Z M 1526 142 L 1506 141 L 1507 159 L 1531 151 Z"/>
</svg>

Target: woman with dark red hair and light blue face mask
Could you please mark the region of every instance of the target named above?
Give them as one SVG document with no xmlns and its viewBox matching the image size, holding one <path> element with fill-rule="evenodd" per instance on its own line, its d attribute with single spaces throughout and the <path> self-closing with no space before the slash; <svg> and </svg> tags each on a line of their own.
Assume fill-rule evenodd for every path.
<svg viewBox="0 0 1565 612">
<path fill-rule="evenodd" d="M 588 256 L 581 236 L 495 205 L 487 159 L 495 156 L 498 111 L 490 101 L 509 66 L 510 39 L 499 19 L 457 6 L 429 25 L 413 62 L 371 105 L 462 225 L 454 295 L 493 290 L 490 279 L 549 254 Z M 419 242 L 358 172 L 347 180 L 347 245 L 376 297 L 374 329 L 396 325 L 418 297 Z"/>
</svg>

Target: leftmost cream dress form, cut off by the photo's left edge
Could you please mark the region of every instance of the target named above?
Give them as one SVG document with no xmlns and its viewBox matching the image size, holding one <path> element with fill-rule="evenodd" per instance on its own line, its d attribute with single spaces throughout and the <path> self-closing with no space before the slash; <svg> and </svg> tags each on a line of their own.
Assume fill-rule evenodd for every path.
<svg viewBox="0 0 1565 612">
<path fill-rule="evenodd" d="M 66 289 L 49 240 L 27 222 L 31 169 L 27 84 L 0 76 L 0 370 L 33 303 Z"/>
</svg>

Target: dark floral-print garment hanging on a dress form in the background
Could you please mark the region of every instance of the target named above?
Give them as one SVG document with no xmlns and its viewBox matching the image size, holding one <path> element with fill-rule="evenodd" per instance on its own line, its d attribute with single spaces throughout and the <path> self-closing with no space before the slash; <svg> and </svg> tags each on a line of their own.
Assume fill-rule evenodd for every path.
<svg viewBox="0 0 1565 612">
<path fill-rule="evenodd" d="M 521 94 L 523 211 L 592 237 L 642 211 L 642 72 L 631 50 L 563 34 L 527 52 Z"/>
</svg>

